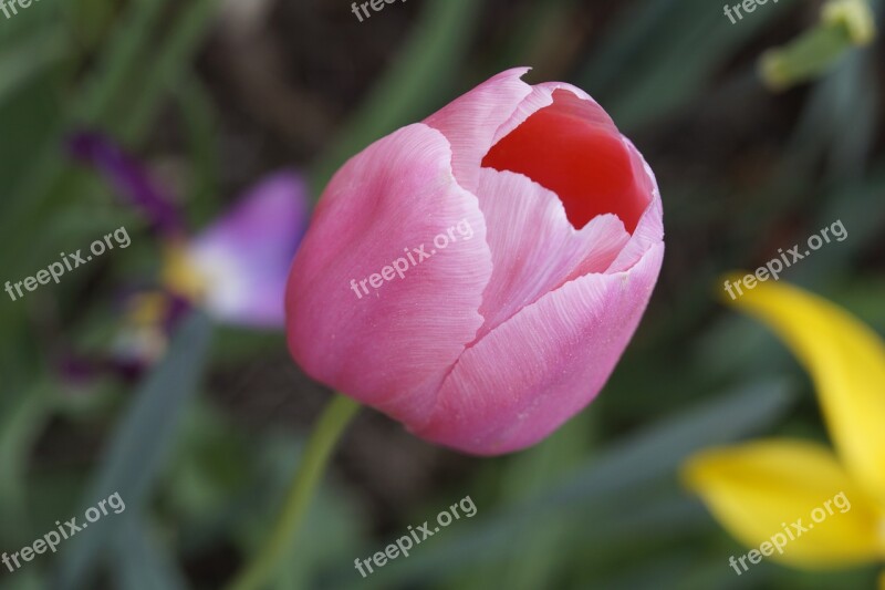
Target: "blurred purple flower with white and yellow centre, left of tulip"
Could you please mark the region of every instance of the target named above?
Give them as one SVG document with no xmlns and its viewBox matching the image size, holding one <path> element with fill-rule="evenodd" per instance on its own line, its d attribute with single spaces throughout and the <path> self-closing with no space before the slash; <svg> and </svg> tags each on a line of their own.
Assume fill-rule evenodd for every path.
<svg viewBox="0 0 885 590">
<path fill-rule="evenodd" d="M 189 232 L 170 194 L 111 138 L 77 133 L 69 148 L 147 218 L 163 246 L 157 289 L 142 290 L 125 306 L 126 328 L 115 356 L 127 371 L 134 359 L 144 365 L 156 359 L 181 310 L 190 306 L 222 323 L 283 329 L 285 281 L 310 215 L 301 175 L 281 170 L 261 178 L 214 222 Z M 71 359 L 65 364 L 73 366 Z"/>
</svg>

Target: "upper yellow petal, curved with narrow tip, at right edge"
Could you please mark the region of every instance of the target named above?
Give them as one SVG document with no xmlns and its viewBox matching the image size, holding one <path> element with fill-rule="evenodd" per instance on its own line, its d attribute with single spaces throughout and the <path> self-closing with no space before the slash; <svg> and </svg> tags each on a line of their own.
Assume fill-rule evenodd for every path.
<svg viewBox="0 0 885 590">
<path fill-rule="evenodd" d="M 792 349 L 814 380 L 839 455 L 885 505 L 885 343 L 842 308 L 795 287 L 769 280 L 742 290 L 726 300 Z"/>
</svg>

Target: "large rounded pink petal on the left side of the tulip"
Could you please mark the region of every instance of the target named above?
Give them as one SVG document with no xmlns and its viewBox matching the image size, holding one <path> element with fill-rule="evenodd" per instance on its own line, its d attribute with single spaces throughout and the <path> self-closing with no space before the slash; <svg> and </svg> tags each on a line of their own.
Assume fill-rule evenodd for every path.
<svg viewBox="0 0 885 590">
<path fill-rule="evenodd" d="M 445 249 L 434 244 L 447 234 Z M 395 263 L 402 276 L 384 270 Z M 316 207 L 287 293 L 292 355 L 317 381 L 415 420 L 482 324 L 490 276 L 486 224 L 448 141 L 404 127 L 345 164 Z"/>
</svg>

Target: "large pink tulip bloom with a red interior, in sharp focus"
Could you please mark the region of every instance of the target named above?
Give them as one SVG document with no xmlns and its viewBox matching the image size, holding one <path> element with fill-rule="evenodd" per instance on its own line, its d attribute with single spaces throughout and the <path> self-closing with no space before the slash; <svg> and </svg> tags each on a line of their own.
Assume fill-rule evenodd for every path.
<svg viewBox="0 0 885 590">
<path fill-rule="evenodd" d="M 583 91 L 498 74 L 332 178 L 287 290 L 314 379 L 477 455 L 600 392 L 664 256 L 660 196 Z"/>
</svg>

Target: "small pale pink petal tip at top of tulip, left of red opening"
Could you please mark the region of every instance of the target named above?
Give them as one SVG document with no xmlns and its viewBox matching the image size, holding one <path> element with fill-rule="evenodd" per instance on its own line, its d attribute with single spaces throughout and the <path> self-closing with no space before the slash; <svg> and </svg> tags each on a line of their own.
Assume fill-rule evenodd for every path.
<svg viewBox="0 0 885 590">
<path fill-rule="evenodd" d="M 451 145 L 451 167 L 467 190 L 479 184 L 479 163 L 494 134 L 532 89 L 520 80 L 529 68 L 513 68 L 487 80 L 425 120 Z"/>
</svg>

